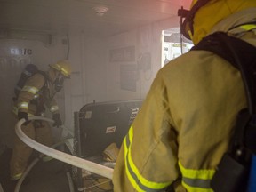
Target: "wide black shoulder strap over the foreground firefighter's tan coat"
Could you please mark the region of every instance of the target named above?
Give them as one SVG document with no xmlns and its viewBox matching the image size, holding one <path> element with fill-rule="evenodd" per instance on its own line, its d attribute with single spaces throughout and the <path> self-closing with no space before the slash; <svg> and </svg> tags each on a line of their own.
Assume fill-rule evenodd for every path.
<svg viewBox="0 0 256 192">
<path fill-rule="evenodd" d="M 244 80 L 250 114 L 256 114 L 256 47 L 226 33 L 217 32 L 206 36 L 191 50 L 214 52 L 238 68 Z"/>
</svg>

